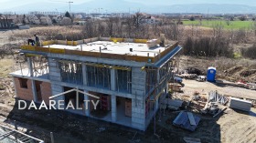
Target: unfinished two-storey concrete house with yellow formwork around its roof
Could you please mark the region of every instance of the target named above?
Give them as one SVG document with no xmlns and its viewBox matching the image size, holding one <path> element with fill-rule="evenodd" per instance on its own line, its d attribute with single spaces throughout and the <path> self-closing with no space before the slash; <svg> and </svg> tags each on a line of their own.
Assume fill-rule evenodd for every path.
<svg viewBox="0 0 256 143">
<path fill-rule="evenodd" d="M 65 105 L 78 100 L 82 109 L 69 112 L 145 130 L 160 107 L 159 98 L 165 98 L 181 49 L 177 42 L 110 37 L 22 46 L 28 68 L 11 73 L 16 98 L 48 104 L 49 97 L 78 88 L 100 98 L 97 109 L 91 104 L 85 109 L 83 100 L 94 98 L 81 93 L 54 99 Z"/>
</svg>

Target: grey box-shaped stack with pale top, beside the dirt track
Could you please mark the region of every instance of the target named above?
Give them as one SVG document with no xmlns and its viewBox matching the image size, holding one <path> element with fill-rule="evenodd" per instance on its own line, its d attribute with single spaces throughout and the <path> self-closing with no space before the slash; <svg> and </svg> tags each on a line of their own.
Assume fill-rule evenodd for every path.
<svg viewBox="0 0 256 143">
<path fill-rule="evenodd" d="M 251 101 L 230 97 L 229 107 L 249 112 L 251 110 Z"/>
</svg>

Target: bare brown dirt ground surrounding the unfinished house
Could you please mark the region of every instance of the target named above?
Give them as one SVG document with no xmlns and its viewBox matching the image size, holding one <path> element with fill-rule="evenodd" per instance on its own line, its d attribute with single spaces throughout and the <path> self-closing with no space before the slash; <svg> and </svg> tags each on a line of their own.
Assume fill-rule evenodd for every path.
<svg viewBox="0 0 256 143">
<path fill-rule="evenodd" d="M 33 28 L 30 30 L 32 34 Z M 20 33 L 20 31 L 17 31 Z M 0 32 L 0 46 L 6 41 L 6 36 L 13 36 L 13 31 Z M 16 31 L 15 31 L 16 33 Z M 195 58 L 182 56 L 181 68 L 195 66 L 201 71 L 207 70 L 208 66 L 216 66 L 218 77 L 226 77 L 233 80 L 240 78 L 250 79 L 255 82 L 255 74 L 249 77 L 240 76 L 241 70 L 256 69 L 255 60 L 227 59 L 227 58 Z M 241 66 L 240 68 L 237 68 Z M 178 115 L 177 111 L 163 110 L 156 116 L 156 134 L 154 135 L 154 120 L 145 132 L 124 128 L 111 123 L 94 120 L 57 110 L 18 110 L 13 87 L 13 81 L 8 73 L 19 69 L 13 56 L 6 56 L 0 59 L 0 124 L 11 126 L 16 120 L 20 130 L 29 135 L 50 141 L 49 132 L 53 132 L 57 143 L 81 143 L 81 142 L 184 142 L 184 137 L 200 138 L 201 142 L 224 142 L 224 143 L 255 143 L 256 142 L 256 109 L 251 107 L 250 113 L 241 112 L 228 108 L 220 117 L 213 118 L 208 115 L 201 115 L 195 132 L 190 132 L 172 125 Z M 241 70 L 240 70 L 241 69 Z M 226 70 L 226 72 L 225 72 Z M 184 93 L 175 94 L 173 97 L 192 97 L 195 91 L 208 93 L 210 90 L 218 90 L 219 93 L 227 96 L 238 96 L 256 98 L 256 91 L 240 87 L 219 87 L 211 83 L 199 83 L 193 80 L 184 80 Z M 187 98 L 184 98 L 187 100 Z"/>
</svg>

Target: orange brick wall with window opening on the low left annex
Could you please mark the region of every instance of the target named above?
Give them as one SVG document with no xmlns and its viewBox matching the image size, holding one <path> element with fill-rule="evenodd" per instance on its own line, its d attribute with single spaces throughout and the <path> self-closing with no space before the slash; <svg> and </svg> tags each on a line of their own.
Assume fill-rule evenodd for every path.
<svg viewBox="0 0 256 143">
<path fill-rule="evenodd" d="M 16 97 L 27 101 L 34 99 L 32 92 L 32 83 L 30 79 L 27 79 L 27 88 L 20 87 L 19 77 L 14 77 L 16 87 Z"/>
</svg>

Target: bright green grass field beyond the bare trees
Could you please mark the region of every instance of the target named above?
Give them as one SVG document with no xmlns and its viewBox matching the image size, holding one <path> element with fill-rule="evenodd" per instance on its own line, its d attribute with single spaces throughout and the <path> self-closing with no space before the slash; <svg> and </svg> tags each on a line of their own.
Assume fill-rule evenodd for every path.
<svg viewBox="0 0 256 143">
<path fill-rule="evenodd" d="M 240 29 L 240 28 L 246 28 L 251 29 L 251 26 L 253 25 L 252 21 L 229 21 L 229 26 L 225 20 L 202 20 L 201 25 L 199 20 L 190 21 L 190 20 L 184 20 L 183 25 L 198 25 L 198 26 L 206 26 L 206 27 L 213 27 L 216 25 L 223 26 L 224 29 Z"/>
</svg>

